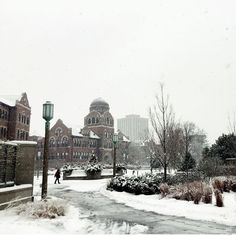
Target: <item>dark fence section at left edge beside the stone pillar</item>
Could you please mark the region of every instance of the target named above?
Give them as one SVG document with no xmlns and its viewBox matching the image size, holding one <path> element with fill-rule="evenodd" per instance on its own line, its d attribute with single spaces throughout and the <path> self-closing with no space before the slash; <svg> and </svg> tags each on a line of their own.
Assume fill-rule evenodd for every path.
<svg viewBox="0 0 236 236">
<path fill-rule="evenodd" d="M 0 188 L 14 186 L 17 145 L 0 142 Z"/>
</svg>

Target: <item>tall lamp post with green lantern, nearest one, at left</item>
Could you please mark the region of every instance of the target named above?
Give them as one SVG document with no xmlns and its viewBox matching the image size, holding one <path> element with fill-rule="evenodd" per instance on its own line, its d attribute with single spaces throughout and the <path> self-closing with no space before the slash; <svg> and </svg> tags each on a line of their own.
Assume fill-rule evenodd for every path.
<svg viewBox="0 0 236 236">
<path fill-rule="evenodd" d="M 43 153 L 43 182 L 42 182 L 42 200 L 47 197 L 48 187 L 48 143 L 49 143 L 49 128 L 50 120 L 53 118 L 54 105 L 47 101 L 43 104 L 43 119 L 45 122 L 45 139 L 44 139 L 44 153 Z"/>
</svg>

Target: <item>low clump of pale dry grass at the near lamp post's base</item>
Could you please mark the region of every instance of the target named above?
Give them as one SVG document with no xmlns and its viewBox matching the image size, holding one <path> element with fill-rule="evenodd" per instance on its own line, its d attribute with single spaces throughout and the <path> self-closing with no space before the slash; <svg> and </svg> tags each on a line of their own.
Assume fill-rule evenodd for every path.
<svg viewBox="0 0 236 236">
<path fill-rule="evenodd" d="M 48 199 L 47 201 L 28 202 L 16 207 L 20 215 L 34 218 L 53 219 L 66 214 L 68 205 L 64 200 Z"/>
</svg>

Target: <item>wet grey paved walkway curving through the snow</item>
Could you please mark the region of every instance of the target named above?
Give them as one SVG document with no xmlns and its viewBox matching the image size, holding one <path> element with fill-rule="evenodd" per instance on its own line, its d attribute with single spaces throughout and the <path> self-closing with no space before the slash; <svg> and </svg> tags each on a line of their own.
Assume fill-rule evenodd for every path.
<svg viewBox="0 0 236 236">
<path fill-rule="evenodd" d="M 105 222 L 111 227 L 114 223 L 125 222 L 129 233 L 134 225 L 148 227 L 146 234 L 232 234 L 236 227 L 212 222 L 189 220 L 184 217 L 160 215 L 154 212 L 136 210 L 124 204 L 116 203 L 99 192 L 76 192 L 63 187 L 54 188 L 49 193 L 68 200 L 79 207 L 95 224 Z"/>
</svg>

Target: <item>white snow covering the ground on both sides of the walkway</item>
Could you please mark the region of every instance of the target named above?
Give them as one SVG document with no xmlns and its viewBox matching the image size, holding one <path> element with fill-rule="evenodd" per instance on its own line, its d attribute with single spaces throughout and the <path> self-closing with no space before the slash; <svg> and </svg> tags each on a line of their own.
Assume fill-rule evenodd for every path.
<svg viewBox="0 0 236 236">
<path fill-rule="evenodd" d="M 131 172 L 128 172 L 128 174 L 131 174 Z M 193 202 L 168 198 L 160 199 L 159 195 L 133 195 L 125 192 L 108 191 L 106 190 L 107 181 L 109 180 L 61 180 L 60 185 L 55 185 L 54 177 L 51 174 L 48 176 L 48 189 L 67 188 L 78 192 L 99 191 L 116 202 L 124 203 L 136 209 L 236 226 L 236 193 L 224 193 L 224 207 L 219 208 L 215 206 L 215 199 L 213 199 L 212 204 L 200 203 L 195 205 Z M 34 195 L 36 196 L 36 202 L 40 200 L 41 182 L 41 176 L 39 179 L 35 177 Z M 125 224 L 119 227 L 113 225 L 111 229 L 106 229 L 105 224 L 94 224 L 80 212 L 80 209 L 69 205 L 69 203 L 66 207 L 66 216 L 56 219 L 35 219 L 22 214 L 18 215 L 15 208 L 0 211 L 0 219 L 1 234 L 86 234 L 88 232 L 119 234 L 124 232 L 125 227 L 127 227 Z M 137 225 L 137 227 L 132 228 L 130 233 L 140 234 L 145 230 L 145 226 Z"/>
</svg>

